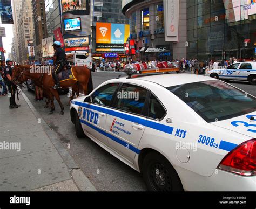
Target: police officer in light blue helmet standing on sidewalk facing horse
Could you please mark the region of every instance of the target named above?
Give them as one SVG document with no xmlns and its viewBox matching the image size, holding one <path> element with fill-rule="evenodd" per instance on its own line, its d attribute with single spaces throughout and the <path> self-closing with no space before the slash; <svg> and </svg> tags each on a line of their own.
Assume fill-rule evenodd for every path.
<svg viewBox="0 0 256 209">
<path fill-rule="evenodd" d="M 6 81 L 6 85 L 8 86 L 8 91 L 11 94 L 10 96 L 10 109 L 18 108 L 20 105 L 17 105 L 15 102 L 15 92 L 16 92 L 16 85 L 11 81 L 12 79 L 12 73 L 14 69 L 12 68 L 12 65 L 14 64 L 14 61 L 11 59 L 6 59 L 7 66 L 5 67 L 5 77 L 8 79 Z"/>
</svg>

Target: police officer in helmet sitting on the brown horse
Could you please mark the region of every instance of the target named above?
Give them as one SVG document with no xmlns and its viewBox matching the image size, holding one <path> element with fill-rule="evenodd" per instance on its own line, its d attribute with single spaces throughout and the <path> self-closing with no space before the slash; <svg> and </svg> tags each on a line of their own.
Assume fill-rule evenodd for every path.
<svg viewBox="0 0 256 209">
<path fill-rule="evenodd" d="M 52 45 L 55 50 L 53 57 L 53 65 L 55 66 L 55 68 L 52 72 L 52 78 L 55 80 L 55 86 L 53 86 L 54 89 L 60 88 L 58 74 L 66 65 L 66 53 L 61 48 L 61 45 L 62 44 L 59 41 L 55 41 Z"/>
</svg>

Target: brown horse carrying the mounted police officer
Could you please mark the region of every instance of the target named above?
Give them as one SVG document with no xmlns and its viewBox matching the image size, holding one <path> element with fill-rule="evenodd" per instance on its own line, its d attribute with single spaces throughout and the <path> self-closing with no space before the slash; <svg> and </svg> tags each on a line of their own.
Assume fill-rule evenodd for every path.
<svg viewBox="0 0 256 209">
<path fill-rule="evenodd" d="M 60 114 L 64 114 L 64 107 L 62 105 L 62 102 L 60 101 L 59 94 L 57 90 L 53 89 L 52 86 L 54 86 L 55 82 L 51 76 L 48 73 L 35 73 L 31 72 L 31 68 L 33 66 L 29 65 L 17 65 L 14 67 L 14 81 L 16 80 L 24 80 L 26 78 L 33 80 L 37 84 L 41 84 L 41 86 L 44 89 L 44 92 L 48 94 L 49 99 L 51 101 L 51 110 L 49 114 L 52 114 L 55 110 L 53 99 L 54 97 L 58 101 L 61 112 Z M 92 86 L 92 77 L 91 77 L 91 71 L 87 67 L 84 66 L 72 66 L 72 73 L 73 78 L 67 79 L 64 81 L 60 81 L 60 87 L 62 88 L 69 88 L 74 87 L 76 89 L 76 86 L 78 86 L 78 83 L 80 86 L 82 86 L 84 95 L 87 95 L 92 92 L 93 86 Z M 73 90 L 72 95 L 75 95 L 75 90 Z M 78 91 L 79 92 L 79 91 Z"/>
</svg>

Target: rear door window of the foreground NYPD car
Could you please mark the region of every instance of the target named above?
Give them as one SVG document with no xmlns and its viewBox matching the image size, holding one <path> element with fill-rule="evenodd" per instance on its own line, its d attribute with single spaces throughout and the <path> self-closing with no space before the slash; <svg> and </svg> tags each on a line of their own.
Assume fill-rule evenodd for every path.
<svg viewBox="0 0 256 209">
<path fill-rule="evenodd" d="M 124 83 L 117 92 L 116 108 L 141 115 L 146 101 L 147 90 L 140 86 Z"/>
</svg>

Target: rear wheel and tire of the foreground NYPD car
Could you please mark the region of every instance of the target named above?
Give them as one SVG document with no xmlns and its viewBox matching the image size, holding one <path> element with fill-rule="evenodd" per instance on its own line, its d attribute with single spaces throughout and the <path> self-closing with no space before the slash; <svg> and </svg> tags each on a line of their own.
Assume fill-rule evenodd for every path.
<svg viewBox="0 0 256 209">
<path fill-rule="evenodd" d="M 176 170 L 158 152 L 150 152 L 145 156 L 142 174 L 149 191 L 184 191 Z"/>
</svg>

